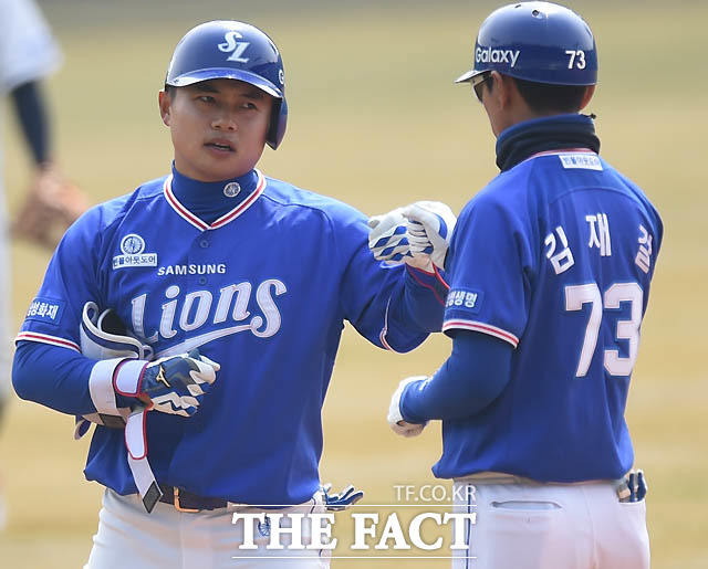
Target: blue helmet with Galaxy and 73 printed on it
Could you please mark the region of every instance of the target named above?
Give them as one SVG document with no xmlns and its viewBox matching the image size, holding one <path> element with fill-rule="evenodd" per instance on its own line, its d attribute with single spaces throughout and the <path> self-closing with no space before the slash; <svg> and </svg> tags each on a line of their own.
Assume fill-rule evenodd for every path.
<svg viewBox="0 0 708 569">
<path fill-rule="evenodd" d="M 475 43 L 475 65 L 456 83 L 486 71 L 535 83 L 594 85 L 595 39 L 585 21 L 565 7 L 551 2 L 504 6 L 482 23 Z"/>
</svg>

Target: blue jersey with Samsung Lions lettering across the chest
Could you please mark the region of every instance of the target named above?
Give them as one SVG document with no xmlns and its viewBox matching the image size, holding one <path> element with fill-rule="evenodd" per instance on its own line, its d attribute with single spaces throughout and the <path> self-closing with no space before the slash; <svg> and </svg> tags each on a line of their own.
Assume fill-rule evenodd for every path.
<svg viewBox="0 0 708 569">
<path fill-rule="evenodd" d="M 299 504 L 319 487 L 321 409 L 344 320 L 407 351 L 440 329 L 444 306 L 434 278 L 373 259 L 364 214 L 253 178 L 211 222 L 179 201 L 173 176 L 90 210 L 64 235 L 18 340 L 80 350 L 92 301 L 156 357 L 199 348 L 221 368 L 198 413 L 147 413 L 156 478 L 236 503 Z M 93 409 L 86 390 L 71 412 Z M 122 430 L 96 428 L 85 474 L 136 492 Z"/>
</svg>

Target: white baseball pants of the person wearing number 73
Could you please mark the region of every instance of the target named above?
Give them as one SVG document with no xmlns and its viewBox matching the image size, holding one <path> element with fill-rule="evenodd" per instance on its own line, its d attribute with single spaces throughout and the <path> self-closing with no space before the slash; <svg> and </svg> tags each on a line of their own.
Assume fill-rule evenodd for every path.
<svg viewBox="0 0 708 569">
<path fill-rule="evenodd" d="M 455 482 L 455 512 L 477 517 L 454 569 L 648 569 L 646 504 L 621 503 L 613 482 L 485 474 Z"/>
</svg>

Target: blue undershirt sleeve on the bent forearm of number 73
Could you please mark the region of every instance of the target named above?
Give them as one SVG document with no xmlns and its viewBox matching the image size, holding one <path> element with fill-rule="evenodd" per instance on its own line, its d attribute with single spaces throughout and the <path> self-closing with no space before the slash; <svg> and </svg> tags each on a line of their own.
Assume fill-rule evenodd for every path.
<svg viewBox="0 0 708 569">
<path fill-rule="evenodd" d="M 409 423 L 472 415 L 502 392 L 511 373 L 513 347 L 471 330 L 456 330 L 452 354 L 435 376 L 409 383 L 400 412 Z"/>
</svg>

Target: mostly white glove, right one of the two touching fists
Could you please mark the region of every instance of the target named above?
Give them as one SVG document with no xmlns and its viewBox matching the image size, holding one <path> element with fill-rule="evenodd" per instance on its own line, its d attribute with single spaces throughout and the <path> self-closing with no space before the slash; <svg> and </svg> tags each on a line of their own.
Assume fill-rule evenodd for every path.
<svg viewBox="0 0 708 569">
<path fill-rule="evenodd" d="M 407 236 L 410 254 L 427 254 L 439 268 L 445 268 L 445 255 L 457 218 L 440 201 L 416 201 L 402 211 L 407 219 Z"/>
</svg>

